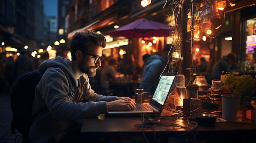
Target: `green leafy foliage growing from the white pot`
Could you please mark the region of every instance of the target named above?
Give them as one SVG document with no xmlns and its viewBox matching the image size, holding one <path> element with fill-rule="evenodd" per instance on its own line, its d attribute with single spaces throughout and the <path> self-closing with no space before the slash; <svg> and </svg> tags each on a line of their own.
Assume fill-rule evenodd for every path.
<svg viewBox="0 0 256 143">
<path fill-rule="evenodd" d="M 254 94 L 256 84 L 251 75 L 236 76 L 235 72 L 225 75 L 224 86 L 221 88 L 229 90 L 231 96 L 251 97 Z"/>
</svg>

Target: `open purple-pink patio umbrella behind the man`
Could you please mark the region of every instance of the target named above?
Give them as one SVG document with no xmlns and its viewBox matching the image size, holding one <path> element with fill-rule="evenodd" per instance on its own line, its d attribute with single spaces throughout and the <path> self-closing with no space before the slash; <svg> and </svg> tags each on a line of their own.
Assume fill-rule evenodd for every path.
<svg viewBox="0 0 256 143">
<path fill-rule="evenodd" d="M 130 24 L 124 25 L 119 29 L 115 29 L 114 31 L 110 32 L 109 35 L 132 38 L 144 38 L 153 36 L 160 37 L 169 36 L 170 31 L 173 31 L 172 26 L 141 18 L 139 20 L 131 22 Z"/>
</svg>

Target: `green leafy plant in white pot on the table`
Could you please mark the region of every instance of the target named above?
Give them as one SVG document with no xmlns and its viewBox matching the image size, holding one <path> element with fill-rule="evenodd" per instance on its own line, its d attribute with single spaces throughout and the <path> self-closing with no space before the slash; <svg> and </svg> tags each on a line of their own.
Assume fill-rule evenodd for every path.
<svg viewBox="0 0 256 143">
<path fill-rule="evenodd" d="M 224 73 L 222 71 L 222 73 Z M 222 118 L 236 120 L 236 114 L 240 106 L 240 101 L 255 92 L 256 84 L 251 75 L 236 76 L 236 73 L 225 73 L 224 86 L 222 90 L 229 91 L 229 95 L 222 95 Z M 242 100 L 241 100 L 242 99 Z"/>
</svg>

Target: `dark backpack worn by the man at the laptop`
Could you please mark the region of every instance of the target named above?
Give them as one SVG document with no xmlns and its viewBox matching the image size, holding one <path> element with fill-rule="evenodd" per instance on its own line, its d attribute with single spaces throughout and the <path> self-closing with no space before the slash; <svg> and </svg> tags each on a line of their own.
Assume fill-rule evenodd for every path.
<svg viewBox="0 0 256 143">
<path fill-rule="evenodd" d="M 57 67 L 65 73 L 70 89 L 73 88 L 70 76 L 62 67 Z M 39 111 L 35 116 L 32 116 L 32 107 L 35 97 L 35 89 L 42 75 L 38 70 L 30 71 L 17 78 L 13 90 L 11 92 L 11 110 L 13 119 L 11 121 L 11 133 L 15 133 L 15 129 L 23 135 L 29 135 L 29 129 L 34 118 L 43 110 Z M 71 92 L 71 90 L 70 90 Z M 68 95 L 70 95 L 70 92 Z"/>
</svg>

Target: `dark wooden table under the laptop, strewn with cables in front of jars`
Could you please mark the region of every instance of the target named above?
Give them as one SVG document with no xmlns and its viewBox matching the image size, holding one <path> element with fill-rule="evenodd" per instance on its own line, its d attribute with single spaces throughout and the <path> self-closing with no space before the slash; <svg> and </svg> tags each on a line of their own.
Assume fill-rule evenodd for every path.
<svg viewBox="0 0 256 143">
<path fill-rule="evenodd" d="M 198 139 L 220 142 L 240 142 L 245 139 L 253 141 L 256 124 L 252 121 L 216 123 L 215 126 L 200 126 L 186 119 L 160 119 L 152 128 L 141 128 L 141 118 L 118 117 L 110 118 L 101 114 L 97 118 L 84 120 L 81 128 L 83 136 L 105 136 L 119 139 L 123 136 L 146 136 L 145 139 L 157 142 L 167 142 L 170 138 Z M 136 127 L 137 125 L 137 127 Z M 154 138 L 155 136 L 155 138 Z"/>
</svg>

